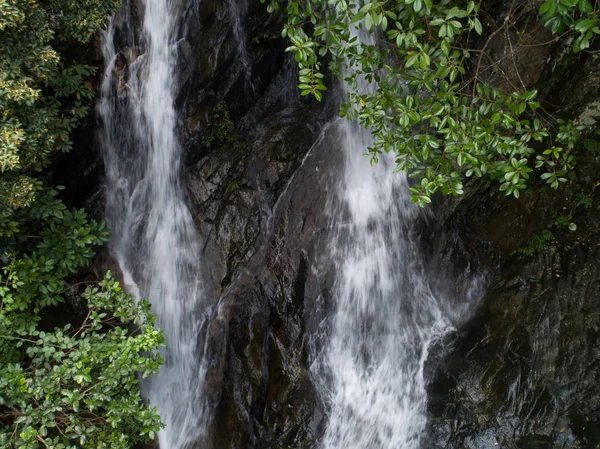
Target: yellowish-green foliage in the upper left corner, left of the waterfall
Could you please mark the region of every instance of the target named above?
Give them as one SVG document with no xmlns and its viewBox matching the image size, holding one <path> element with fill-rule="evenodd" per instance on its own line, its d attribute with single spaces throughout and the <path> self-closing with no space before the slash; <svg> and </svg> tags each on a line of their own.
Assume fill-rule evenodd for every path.
<svg viewBox="0 0 600 449">
<path fill-rule="evenodd" d="M 0 0 L 0 237 L 35 220 L 38 204 L 54 207 L 56 191 L 40 174 L 57 153 L 71 150 L 69 134 L 94 93 L 95 68 L 67 63 L 51 44 L 87 41 L 115 6 Z"/>
</svg>

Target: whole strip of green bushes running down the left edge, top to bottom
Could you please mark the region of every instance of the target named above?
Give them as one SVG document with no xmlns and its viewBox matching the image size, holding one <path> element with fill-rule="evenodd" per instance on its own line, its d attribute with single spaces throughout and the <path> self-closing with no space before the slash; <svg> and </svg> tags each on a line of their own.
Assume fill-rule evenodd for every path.
<svg viewBox="0 0 600 449">
<path fill-rule="evenodd" d="M 108 233 L 48 181 L 94 92 L 95 68 L 57 49 L 82 48 L 115 7 L 0 0 L 2 448 L 128 448 L 160 428 L 137 373 L 157 371 L 162 335 L 110 274 L 82 295 L 70 285 Z"/>
</svg>

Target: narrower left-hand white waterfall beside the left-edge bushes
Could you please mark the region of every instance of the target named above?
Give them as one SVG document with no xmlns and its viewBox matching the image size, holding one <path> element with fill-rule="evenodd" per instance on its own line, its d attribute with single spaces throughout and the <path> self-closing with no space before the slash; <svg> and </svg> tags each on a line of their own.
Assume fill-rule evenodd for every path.
<svg viewBox="0 0 600 449">
<path fill-rule="evenodd" d="M 112 252 L 128 290 L 149 299 L 167 339 L 165 365 L 143 384 L 166 424 L 159 433 L 163 449 L 186 447 L 202 438 L 204 428 L 205 367 L 198 338 L 205 306 L 199 237 L 180 182 L 172 93 L 175 3 L 145 2 L 141 42 L 130 39 L 125 67 L 117 67 L 111 24 L 104 36 L 100 105 Z M 124 2 L 121 19 L 128 20 L 129 8 Z"/>
</svg>

